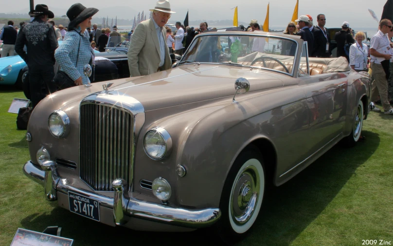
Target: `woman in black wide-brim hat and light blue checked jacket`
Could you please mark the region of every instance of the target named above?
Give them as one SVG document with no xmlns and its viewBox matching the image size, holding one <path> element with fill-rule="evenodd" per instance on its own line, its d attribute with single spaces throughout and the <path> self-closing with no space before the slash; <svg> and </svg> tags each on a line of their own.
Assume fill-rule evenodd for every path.
<svg viewBox="0 0 393 246">
<path fill-rule="evenodd" d="M 62 44 L 54 53 L 60 65 L 60 71 L 66 73 L 76 85 L 88 84 L 89 78 L 83 74 L 83 67 L 94 60 L 89 36 L 85 36 L 86 28 L 91 25 L 91 17 L 98 12 L 96 8 L 86 8 L 80 3 L 73 4 L 67 11 L 70 19 L 69 31 Z"/>
</svg>

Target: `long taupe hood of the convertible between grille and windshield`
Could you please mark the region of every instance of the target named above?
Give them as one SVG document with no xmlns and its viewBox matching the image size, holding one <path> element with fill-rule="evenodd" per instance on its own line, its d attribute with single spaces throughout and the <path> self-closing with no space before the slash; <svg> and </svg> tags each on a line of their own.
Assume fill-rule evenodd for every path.
<svg viewBox="0 0 393 246">
<path fill-rule="evenodd" d="M 251 93 L 283 87 L 283 80 L 290 76 L 229 65 L 183 65 L 148 76 L 93 83 L 89 88 L 73 87 L 60 92 L 62 95 L 56 93 L 53 96 L 67 100 L 58 102 L 62 107 L 76 107 L 76 103 L 83 99 L 81 93 L 86 96 L 103 91 L 102 85 L 113 82 L 109 88 L 110 94 L 129 95 L 140 101 L 145 111 L 149 111 L 233 96 L 236 91 L 234 83 L 239 77 L 249 80 Z M 240 97 L 238 95 L 236 98 Z"/>
</svg>

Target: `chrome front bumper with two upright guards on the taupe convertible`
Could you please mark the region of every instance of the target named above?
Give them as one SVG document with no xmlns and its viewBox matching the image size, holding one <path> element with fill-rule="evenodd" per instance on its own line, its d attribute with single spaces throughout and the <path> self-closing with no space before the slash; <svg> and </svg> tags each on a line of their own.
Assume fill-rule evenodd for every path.
<svg viewBox="0 0 393 246">
<path fill-rule="evenodd" d="M 112 183 L 115 191 L 114 198 L 79 189 L 71 186 L 67 179 L 62 179 L 58 175 L 56 164 L 53 161 L 44 162 L 41 169 L 28 161 L 23 167 L 23 172 L 27 177 L 44 187 L 45 198 L 48 201 L 56 201 L 57 192 L 68 194 L 68 191 L 96 199 L 100 206 L 113 210 L 114 223 L 118 226 L 125 225 L 129 218 L 135 217 L 173 226 L 201 228 L 213 225 L 221 217 L 219 208 L 174 208 L 161 203 L 130 198 L 127 193 L 127 183 L 123 179 L 114 180 Z"/>
</svg>

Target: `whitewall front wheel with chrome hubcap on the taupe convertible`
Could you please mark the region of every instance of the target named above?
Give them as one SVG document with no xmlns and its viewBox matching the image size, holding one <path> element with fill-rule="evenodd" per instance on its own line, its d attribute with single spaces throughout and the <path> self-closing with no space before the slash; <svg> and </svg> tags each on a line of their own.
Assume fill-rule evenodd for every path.
<svg viewBox="0 0 393 246">
<path fill-rule="evenodd" d="M 217 229 L 227 244 L 242 239 L 254 224 L 265 191 L 263 158 L 256 147 L 242 151 L 233 163 L 221 194 Z"/>
</svg>

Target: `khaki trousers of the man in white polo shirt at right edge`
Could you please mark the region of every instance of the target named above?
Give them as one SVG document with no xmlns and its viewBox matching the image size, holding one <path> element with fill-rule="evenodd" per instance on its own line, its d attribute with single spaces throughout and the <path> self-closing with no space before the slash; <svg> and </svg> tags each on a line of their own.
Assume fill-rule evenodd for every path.
<svg viewBox="0 0 393 246">
<path fill-rule="evenodd" d="M 392 106 L 390 106 L 388 99 L 388 80 L 386 80 L 385 71 L 381 64 L 371 63 L 371 69 L 373 70 L 374 81 L 371 86 L 371 101 L 375 102 L 379 96 L 381 97 L 381 103 L 383 110 L 385 112 L 389 111 Z"/>
</svg>

